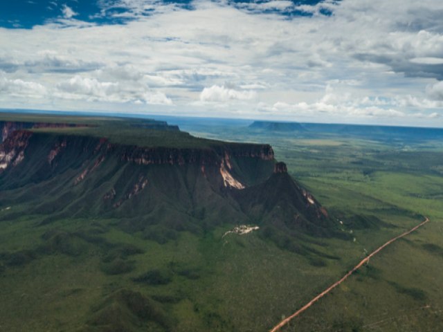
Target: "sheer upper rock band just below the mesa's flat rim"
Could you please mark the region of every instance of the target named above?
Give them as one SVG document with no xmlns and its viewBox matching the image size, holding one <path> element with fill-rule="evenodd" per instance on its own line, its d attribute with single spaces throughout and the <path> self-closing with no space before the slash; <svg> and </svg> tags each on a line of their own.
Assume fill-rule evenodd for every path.
<svg viewBox="0 0 443 332">
<path fill-rule="evenodd" d="M 26 122 L 25 122 L 26 123 Z M 8 133 L 6 139 L 0 145 L 0 169 L 5 170 L 17 166 L 22 160 L 28 158 L 28 145 L 30 155 L 35 158 L 35 152 L 39 151 L 39 160 L 29 160 L 29 162 L 42 164 L 42 169 L 48 167 L 47 171 L 40 173 L 50 174 L 55 172 L 59 165 L 73 167 L 78 163 L 88 164 L 95 160 L 93 166 L 81 167 L 78 170 L 78 176 L 75 183 L 80 183 L 87 178 L 104 160 L 118 161 L 121 165 L 126 163 L 154 166 L 170 165 L 184 167 L 192 165 L 201 169 L 204 175 L 214 172 L 211 181 L 214 183 L 223 183 L 224 187 L 240 188 L 244 185 L 239 183 L 251 182 L 242 179 L 241 165 L 247 163 L 258 163 L 270 169 L 274 163 L 273 150 L 269 145 L 253 144 L 219 144 L 213 148 L 170 148 L 170 147 L 137 147 L 133 145 L 118 145 L 111 143 L 107 138 L 92 138 L 87 136 L 61 135 L 51 133 L 33 133 L 23 129 L 21 123 L 17 125 L 6 124 L 5 133 Z M 26 124 L 28 125 L 28 124 Z M 36 127 L 36 124 L 32 124 Z M 45 124 L 37 124 L 37 126 Z M 64 124 L 60 124 L 63 126 Z M 11 131 L 15 129 L 14 131 Z M 75 156 L 75 158 L 73 158 Z M 58 168 L 57 168 L 58 167 Z M 33 169 L 31 171 L 35 172 Z M 257 178 L 266 174 L 252 174 Z M 269 176 L 269 174 L 268 174 Z"/>
</svg>

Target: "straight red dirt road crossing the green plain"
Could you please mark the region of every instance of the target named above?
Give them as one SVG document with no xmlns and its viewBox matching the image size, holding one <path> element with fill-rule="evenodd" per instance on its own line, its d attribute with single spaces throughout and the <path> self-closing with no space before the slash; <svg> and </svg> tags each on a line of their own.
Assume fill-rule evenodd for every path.
<svg viewBox="0 0 443 332">
<path fill-rule="evenodd" d="M 356 266 L 354 266 L 354 268 L 352 270 L 350 270 L 348 273 L 345 274 L 345 276 L 343 278 L 341 278 L 340 280 L 338 280 L 338 282 L 332 284 L 331 286 L 329 286 L 328 288 L 325 289 L 325 291 L 321 292 L 320 294 L 318 294 L 316 297 L 314 297 L 314 299 L 311 299 L 311 301 L 309 301 L 307 304 L 305 304 L 305 306 L 302 306 L 302 308 L 300 308 L 298 311 L 296 311 L 295 313 L 293 313 L 292 315 L 290 315 L 289 317 L 285 318 L 284 320 L 282 320 L 280 323 L 278 323 L 277 325 L 275 325 L 273 327 L 273 329 L 271 329 L 270 332 L 277 332 L 278 330 L 280 330 L 284 325 L 288 324 L 291 320 L 293 320 L 293 318 L 297 317 L 298 315 L 300 315 L 300 313 L 302 313 L 303 311 L 305 311 L 307 308 L 309 308 L 309 306 L 311 306 L 312 304 L 314 304 L 315 302 L 317 302 L 320 298 L 322 298 L 323 296 L 325 296 L 327 293 L 329 293 L 330 291 L 332 291 L 334 288 L 336 288 L 336 286 L 338 286 L 339 284 L 341 284 L 342 282 L 344 282 L 350 275 L 352 275 L 352 273 L 354 273 L 356 270 L 358 270 L 359 268 L 361 268 L 361 266 L 363 266 L 363 264 L 365 264 L 366 262 L 369 261 L 369 259 L 371 257 L 373 257 L 374 255 L 377 255 L 381 250 L 383 250 L 383 248 L 385 248 L 386 246 L 390 245 L 390 243 L 397 241 L 398 239 L 400 239 L 401 237 L 404 237 L 412 232 L 414 232 L 415 230 L 417 230 L 417 228 L 422 227 L 422 225 L 424 225 L 425 223 L 427 223 L 429 221 L 429 219 L 426 217 L 426 219 L 422 222 L 419 223 L 418 225 L 416 225 L 414 228 L 411 228 L 410 230 L 398 235 L 397 237 L 394 237 L 392 239 L 390 239 L 388 242 L 386 242 L 385 244 L 383 244 L 383 246 L 380 246 L 379 248 L 377 248 L 376 250 L 374 250 L 373 252 L 370 253 L 370 255 L 368 255 L 367 257 L 365 257 L 364 259 L 362 259 L 360 261 L 359 264 L 357 264 Z"/>
</svg>

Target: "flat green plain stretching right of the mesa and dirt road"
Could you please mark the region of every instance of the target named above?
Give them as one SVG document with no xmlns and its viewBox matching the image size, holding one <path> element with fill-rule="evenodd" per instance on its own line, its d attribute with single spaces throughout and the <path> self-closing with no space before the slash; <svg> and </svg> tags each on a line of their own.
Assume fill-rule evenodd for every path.
<svg viewBox="0 0 443 332">
<path fill-rule="evenodd" d="M 443 328 L 443 143 L 201 127 L 201 136 L 269 142 L 278 160 L 354 234 L 354 250 L 327 241 L 338 252 L 343 273 L 383 241 L 412 226 L 424 228 L 383 250 L 370 264 L 309 308 L 284 331 L 440 331 Z M 361 222 L 375 216 L 379 227 Z M 414 216 L 415 215 L 415 216 Z M 366 227 L 365 227 L 366 226 Z M 388 227 L 386 227 L 388 226 Z M 341 249 L 339 248 L 341 247 Z M 328 265 L 330 262 L 328 261 Z M 336 271 L 328 270 L 329 276 Z M 339 279 L 341 275 L 336 275 Z M 321 283 L 320 283 L 321 284 Z M 325 283 L 323 283 L 325 284 Z M 329 285 L 325 285 L 329 286 Z M 305 284 L 294 282 L 292 287 Z M 312 297 L 316 295 L 311 293 Z M 292 311 L 302 306 L 294 298 Z M 285 308 L 288 308 L 286 305 Z M 278 321 L 276 317 L 275 322 Z"/>
</svg>

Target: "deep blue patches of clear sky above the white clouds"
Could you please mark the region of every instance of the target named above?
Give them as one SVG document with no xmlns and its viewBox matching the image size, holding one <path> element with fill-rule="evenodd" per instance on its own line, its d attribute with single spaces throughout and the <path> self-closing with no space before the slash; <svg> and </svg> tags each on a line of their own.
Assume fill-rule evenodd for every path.
<svg viewBox="0 0 443 332">
<path fill-rule="evenodd" d="M 96 24 L 125 24 L 140 16 L 150 16 L 156 8 L 173 6 L 177 9 L 195 10 L 192 0 L 165 1 L 118 1 L 118 0 L 15 0 L 0 3 L 0 26 L 5 28 L 33 28 L 66 16 L 72 10 L 72 17 Z M 280 1 L 279 6 L 266 6 L 276 1 L 230 0 L 224 3 L 253 13 L 274 13 L 288 18 L 312 16 L 312 12 L 298 8 L 302 5 L 315 6 L 322 0 Z M 290 6 L 288 6 L 288 4 Z M 258 5 L 258 7 L 257 7 Z M 262 5 L 260 7 L 260 5 Z M 69 9 L 67 9 L 69 8 Z M 326 8 L 323 15 L 330 15 Z M 69 16 L 69 15 L 68 15 Z"/>
</svg>

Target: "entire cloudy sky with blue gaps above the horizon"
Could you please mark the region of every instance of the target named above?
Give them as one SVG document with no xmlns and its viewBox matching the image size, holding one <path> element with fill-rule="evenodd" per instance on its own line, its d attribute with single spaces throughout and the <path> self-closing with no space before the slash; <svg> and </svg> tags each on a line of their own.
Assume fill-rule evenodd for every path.
<svg viewBox="0 0 443 332">
<path fill-rule="evenodd" d="M 0 1 L 0 107 L 443 127 L 441 0 Z"/>
</svg>

